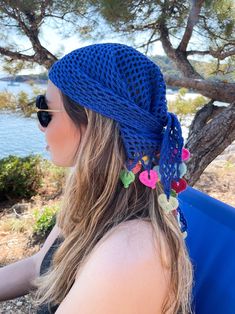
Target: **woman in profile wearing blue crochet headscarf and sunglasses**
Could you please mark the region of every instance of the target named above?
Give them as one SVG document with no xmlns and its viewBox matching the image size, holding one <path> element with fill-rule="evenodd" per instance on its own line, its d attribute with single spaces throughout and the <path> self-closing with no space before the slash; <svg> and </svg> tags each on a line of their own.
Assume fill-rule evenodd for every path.
<svg viewBox="0 0 235 314">
<path fill-rule="evenodd" d="M 159 68 L 129 46 L 80 48 L 53 64 L 37 107 L 53 163 L 71 167 L 28 280 L 38 313 L 191 313 L 188 152 Z"/>
</svg>

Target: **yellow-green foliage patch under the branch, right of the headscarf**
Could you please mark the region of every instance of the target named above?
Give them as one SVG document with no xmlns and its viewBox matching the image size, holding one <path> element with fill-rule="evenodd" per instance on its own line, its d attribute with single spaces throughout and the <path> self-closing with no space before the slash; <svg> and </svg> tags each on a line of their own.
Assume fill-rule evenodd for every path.
<svg viewBox="0 0 235 314">
<path fill-rule="evenodd" d="M 209 100 L 206 97 L 198 96 L 194 99 L 185 99 L 181 94 L 178 94 L 174 101 L 168 102 L 169 111 L 177 115 L 195 114 Z"/>
</svg>

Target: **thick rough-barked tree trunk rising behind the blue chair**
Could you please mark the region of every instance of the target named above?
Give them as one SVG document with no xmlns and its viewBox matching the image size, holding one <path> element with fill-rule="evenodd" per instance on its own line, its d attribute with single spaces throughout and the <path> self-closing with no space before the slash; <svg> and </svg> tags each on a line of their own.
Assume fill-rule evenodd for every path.
<svg viewBox="0 0 235 314">
<path fill-rule="evenodd" d="M 217 107 L 210 101 L 200 109 L 190 126 L 185 147 L 191 152 L 185 175 L 193 186 L 206 167 L 235 140 L 235 103 Z"/>
</svg>

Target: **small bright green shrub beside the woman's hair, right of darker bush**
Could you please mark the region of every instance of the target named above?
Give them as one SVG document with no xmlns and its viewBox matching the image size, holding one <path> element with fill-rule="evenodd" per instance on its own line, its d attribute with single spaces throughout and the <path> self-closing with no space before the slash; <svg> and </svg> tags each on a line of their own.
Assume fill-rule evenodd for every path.
<svg viewBox="0 0 235 314">
<path fill-rule="evenodd" d="M 36 209 L 33 213 L 35 224 L 33 233 L 35 236 L 45 237 L 54 227 L 58 206 L 46 206 L 42 211 Z"/>
</svg>

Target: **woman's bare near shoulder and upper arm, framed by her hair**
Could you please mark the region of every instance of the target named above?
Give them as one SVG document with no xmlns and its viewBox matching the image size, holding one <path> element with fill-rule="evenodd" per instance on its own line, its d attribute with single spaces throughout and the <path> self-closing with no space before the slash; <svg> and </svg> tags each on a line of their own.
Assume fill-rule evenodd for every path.
<svg viewBox="0 0 235 314">
<path fill-rule="evenodd" d="M 77 313 L 76 308 L 79 314 L 158 314 L 168 293 L 168 280 L 150 222 L 126 221 L 111 229 L 93 249 L 58 314 Z"/>
</svg>

